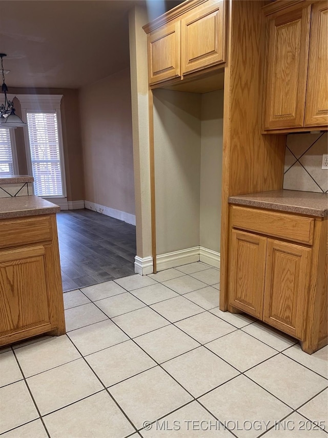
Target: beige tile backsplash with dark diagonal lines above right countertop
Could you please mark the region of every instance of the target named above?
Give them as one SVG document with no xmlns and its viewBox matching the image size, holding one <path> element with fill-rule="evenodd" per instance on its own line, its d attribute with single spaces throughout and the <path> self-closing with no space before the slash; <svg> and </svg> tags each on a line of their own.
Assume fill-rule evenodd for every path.
<svg viewBox="0 0 328 438">
<path fill-rule="evenodd" d="M 328 192 L 328 170 L 321 169 L 328 151 L 328 134 L 289 134 L 286 141 L 283 188 Z"/>
</svg>

